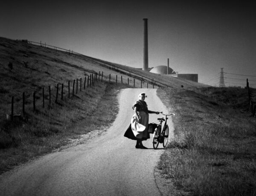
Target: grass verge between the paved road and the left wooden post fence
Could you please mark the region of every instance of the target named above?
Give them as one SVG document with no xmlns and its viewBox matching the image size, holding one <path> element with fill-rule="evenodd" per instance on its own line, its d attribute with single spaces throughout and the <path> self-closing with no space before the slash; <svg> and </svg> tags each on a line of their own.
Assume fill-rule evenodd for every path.
<svg viewBox="0 0 256 196">
<path fill-rule="evenodd" d="M 86 93 L 52 104 L 51 109 L 32 112 L 31 108 L 24 119 L 3 122 L 0 172 L 68 144 L 70 138 L 107 129 L 118 112 L 116 95 L 123 87 L 101 83 Z"/>
</svg>

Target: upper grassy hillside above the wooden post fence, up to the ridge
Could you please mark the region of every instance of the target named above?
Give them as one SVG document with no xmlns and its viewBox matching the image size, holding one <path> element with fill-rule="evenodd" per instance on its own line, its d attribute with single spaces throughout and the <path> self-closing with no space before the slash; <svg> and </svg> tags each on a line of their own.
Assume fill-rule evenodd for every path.
<svg viewBox="0 0 256 196">
<path fill-rule="evenodd" d="M 5 118 L 7 113 L 10 113 L 11 97 L 15 96 L 15 102 L 22 99 L 22 93 L 26 92 L 26 101 L 32 103 L 32 92 L 35 91 L 41 96 L 41 88 L 47 88 L 48 85 L 56 86 L 57 83 L 64 83 L 64 94 L 67 94 L 67 82 L 73 81 L 76 78 L 87 77 L 93 72 L 104 72 L 104 80 L 115 81 L 118 75 L 118 82 L 120 83 L 121 74 L 111 69 L 99 66 L 97 63 L 86 61 L 77 57 L 73 57 L 65 52 L 56 51 L 41 46 L 26 44 L 15 40 L 0 37 L 0 96 L 1 96 L 1 111 L 0 119 Z M 12 62 L 13 69 L 9 69 L 9 62 Z M 24 63 L 25 62 L 25 63 Z M 27 66 L 25 65 L 27 63 Z M 122 66 L 122 65 L 118 65 Z M 133 72 L 142 73 L 142 71 L 122 66 Z M 166 79 L 165 76 L 159 76 L 153 73 L 145 73 L 149 78 L 165 82 L 170 86 L 183 85 L 184 88 L 194 88 L 195 86 L 202 86 L 198 83 L 193 83 L 179 78 Z M 127 84 L 127 75 L 122 75 L 123 82 Z M 169 78 L 169 77 L 168 77 Z M 133 82 L 130 80 L 130 85 Z M 71 83 L 72 85 L 72 83 Z M 140 81 L 136 80 L 135 86 L 140 87 Z M 143 87 L 147 86 L 143 84 Z M 149 85 L 149 87 L 151 87 Z M 55 94 L 52 94 L 55 96 Z M 46 95 L 47 96 L 47 95 Z M 40 101 L 40 100 L 38 100 Z M 6 104 L 7 103 L 7 104 Z M 15 104 L 15 109 L 20 113 L 20 107 Z"/>
</svg>

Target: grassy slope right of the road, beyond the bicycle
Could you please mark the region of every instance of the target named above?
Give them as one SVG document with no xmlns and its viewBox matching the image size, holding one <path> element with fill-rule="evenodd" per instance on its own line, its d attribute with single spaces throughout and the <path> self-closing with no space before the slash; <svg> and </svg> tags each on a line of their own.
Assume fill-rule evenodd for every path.
<svg viewBox="0 0 256 196">
<path fill-rule="evenodd" d="M 256 194 L 256 119 L 247 90 L 158 90 L 175 112 L 175 138 L 158 167 L 195 195 Z"/>
</svg>

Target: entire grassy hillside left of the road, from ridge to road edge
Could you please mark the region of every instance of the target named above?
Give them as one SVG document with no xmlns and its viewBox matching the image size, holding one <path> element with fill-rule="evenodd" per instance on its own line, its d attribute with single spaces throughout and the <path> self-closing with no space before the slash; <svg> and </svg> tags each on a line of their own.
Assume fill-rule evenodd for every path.
<svg viewBox="0 0 256 196">
<path fill-rule="evenodd" d="M 119 72 L 100 66 L 98 63 L 74 57 L 65 52 L 41 46 L 26 44 L 16 40 L 0 37 L 0 172 L 12 168 L 15 164 L 27 161 L 35 156 L 67 144 L 70 138 L 91 130 L 102 130 L 115 118 L 118 110 L 116 94 L 118 89 L 128 86 L 115 85 L 116 75 L 121 81 Z M 12 62 L 12 69 L 8 66 Z M 122 66 L 122 65 L 118 65 Z M 126 67 L 133 72 L 137 69 Z M 103 81 L 113 83 L 96 84 L 68 98 L 68 81 L 70 91 L 73 80 L 84 78 L 94 72 L 104 72 Z M 143 73 L 142 71 L 138 71 Z M 182 81 L 177 78 L 163 80 L 163 77 L 146 73 L 149 78 L 162 80 L 168 85 L 176 81 L 177 86 L 192 88 L 198 84 Z M 127 75 L 122 75 L 127 84 Z M 130 85 L 132 78 L 130 78 Z M 57 84 L 64 84 L 64 100 L 54 104 Z M 191 84 L 190 84 L 191 83 Z M 51 85 L 51 102 L 49 106 L 48 85 Z M 80 82 L 79 82 L 80 86 Z M 131 87 L 130 86 L 130 87 Z M 136 81 L 135 86 L 140 86 Z M 146 84 L 143 84 L 145 87 Z M 42 87 L 44 87 L 45 108 L 42 108 Z M 75 86 L 76 87 L 76 86 Z M 149 87 L 151 87 L 149 85 Z M 14 113 L 22 114 L 22 93 L 25 92 L 26 114 L 15 123 L 6 121 L 10 114 L 11 98 L 14 96 Z M 32 112 L 32 92 L 36 92 L 36 112 Z M 60 94 L 59 94 L 60 97 Z M 109 103 L 111 102 L 111 103 Z M 101 116 L 101 118 L 99 118 Z M 103 116 L 103 118 L 102 118 Z"/>
</svg>

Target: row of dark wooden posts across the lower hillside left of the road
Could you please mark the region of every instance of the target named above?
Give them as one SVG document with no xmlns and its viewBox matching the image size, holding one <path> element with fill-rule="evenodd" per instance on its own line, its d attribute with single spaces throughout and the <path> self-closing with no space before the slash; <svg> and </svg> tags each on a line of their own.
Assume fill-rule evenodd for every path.
<svg viewBox="0 0 256 196">
<path fill-rule="evenodd" d="M 94 75 L 94 76 L 93 76 Z M 106 78 L 105 80 L 103 80 L 103 72 L 99 72 L 99 75 L 98 75 L 98 73 L 96 73 L 96 72 L 93 72 L 92 74 L 90 74 L 90 75 L 87 75 L 87 76 L 85 76 L 84 77 L 84 85 L 83 85 L 83 88 L 84 88 L 84 91 L 85 91 L 85 86 L 86 86 L 86 77 L 87 77 L 87 88 L 89 88 L 89 86 L 91 87 L 91 86 L 94 86 L 96 83 L 98 83 L 98 82 L 107 82 L 107 83 L 118 83 L 118 80 L 117 80 L 117 78 L 118 78 L 118 76 L 116 75 L 116 77 L 115 77 L 115 79 L 116 80 L 114 80 L 113 78 L 111 78 L 111 74 L 109 75 L 109 80 L 108 80 L 108 78 Z M 131 80 L 132 81 L 132 80 Z M 71 80 L 71 82 L 72 82 L 72 80 Z M 134 78 L 134 80 L 133 80 L 133 84 L 132 83 L 130 83 L 129 84 L 129 78 L 128 78 L 128 80 L 127 80 L 127 84 L 128 85 L 133 85 L 134 87 L 136 87 L 135 86 L 135 78 Z M 78 84 L 80 84 L 80 85 L 78 85 Z M 123 83 L 123 81 L 122 81 L 122 75 L 121 75 L 121 84 L 125 84 L 125 83 Z M 141 83 L 140 83 L 140 88 L 143 88 L 143 81 L 141 80 Z M 145 83 L 144 83 L 145 84 Z M 153 89 L 154 89 L 154 84 L 151 86 Z M 55 100 L 54 100 L 54 103 L 55 104 L 58 104 L 59 102 L 59 94 L 60 94 L 60 99 L 61 100 L 63 100 L 63 95 L 64 95 L 64 83 L 61 83 L 61 87 L 59 88 L 59 83 L 58 84 L 56 84 L 56 86 L 54 86 L 55 88 L 56 88 L 56 91 L 55 91 Z M 67 98 L 70 98 L 70 94 L 71 94 L 71 91 L 70 91 L 70 89 L 71 89 L 71 86 L 70 86 L 70 80 L 67 82 L 67 86 L 65 86 L 65 88 L 67 88 Z M 147 83 L 147 88 L 148 88 L 148 83 Z M 160 86 L 158 86 L 158 88 L 160 88 Z M 78 79 L 78 78 L 76 78 L 76 80 L 73 80 L 73 88 L 71 89 L 72 90 L 72 96 L 74 96 L 75 95 L 75 92 L 76 92 L 76 94 L 78 94 L 78 89 L 80 89 L 80 92 L 82 91 L 82 78 L 80 78 L 80 79 Z M 44 108 L 45 107 L 45 99 L 47 98 L 47 95 L 45 94 L 45 89 L 44 89 L 44 86 L 41 88 L 41 90 L 42 90 L 42 102 L 41 102 L 41 107 L 42 108 Z M 60 90 L 60 92 L 59 92 L 59 90 Z M 52 96 L 54 95 L 53 93 L 52 93 L 53 91 L 52 91 L 52 86 L 51 85 L 48 85 L 48 96 L 49 96 L 49 98 L 48 98 L 48 109 L 50 109 L 51 108 L 51 105 L 52 105 L 52 101 L 51 101 L 51 98 L 52 98 Z M 38 96 L 36 96 L 38 94 L 38 92 L 33 92 L 32 93 L 32 96 L 33 96 L 33 112 L 35 112 L 35 111 L 37 111 L 38 110 L 38 103 L 37 103 L 37 101 L 36 101 L 36 99 L 38 98 Z M 29 98 L 29 97 L 27 97 L 27 98 Z M 23 92 L 23 94 L 22 94 L 22 113 L 23 113 L 23 115 L 25 115 L 26 114 L 26 110 L 25 110 L 25 103 L 26 103 L 26 99 L 27 98 L 25 98 L 25 92 Z M 39 97 L 40 98 L 40 97 Z M 38 99 L 39 99 L 38 98 Z M 20 114 L 17 114 L 17 115 L 15 115 L 14 114 L 14 96 L 12 96 L 12 101 L 11 101 L 11 115 L 8 115 L 7 114 L 7 119 L 9 119 L 9 118 L 11 118 L 11 120 L 13 120 L 15 117 L 19 117 L 20 118 Z"/>
</svg>

